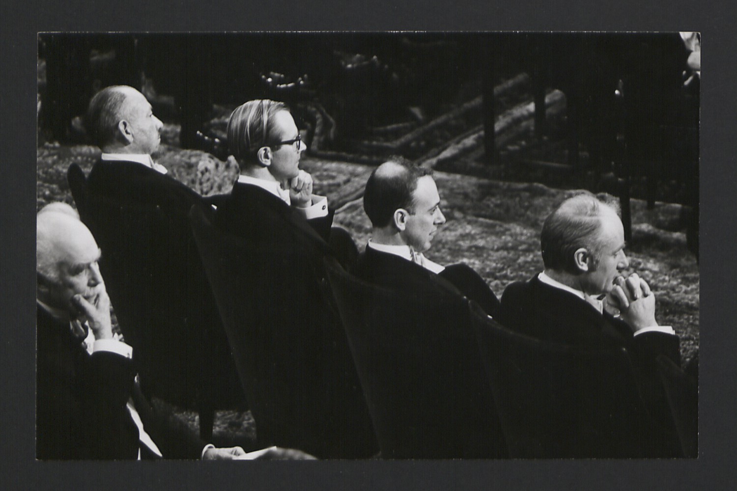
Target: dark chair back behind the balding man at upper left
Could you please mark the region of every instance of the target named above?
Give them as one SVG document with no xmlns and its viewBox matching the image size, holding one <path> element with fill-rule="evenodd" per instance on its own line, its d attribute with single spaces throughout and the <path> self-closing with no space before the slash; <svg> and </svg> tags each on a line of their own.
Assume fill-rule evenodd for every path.
<svg viewBox="0 0 737 491">
<path fill-rule="evenodd" d="M 102 277 L 144 392 L 192 409 L 245 406 L 189 228 L 197 195 L 162 182 L 145 196 L 108 196 L 82 186 L 75 167 L 69 185 L 102 250 Z"/>
</svg>

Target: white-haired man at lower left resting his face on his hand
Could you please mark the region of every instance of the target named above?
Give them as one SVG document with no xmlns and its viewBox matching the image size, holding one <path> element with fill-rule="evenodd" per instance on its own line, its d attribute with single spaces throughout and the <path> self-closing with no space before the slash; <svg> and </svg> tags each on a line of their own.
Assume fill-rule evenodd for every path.
<svg viewBox="0 0 737 491">
<path fill-rule="evenodd" d="M 144 398 L 132 348 L 113 337 L 100 251 L 71 207 L 36 219 L 38 459 L 237 459 Z M 269 449 L 260 458 L 301 457 Z"/>
</svg>

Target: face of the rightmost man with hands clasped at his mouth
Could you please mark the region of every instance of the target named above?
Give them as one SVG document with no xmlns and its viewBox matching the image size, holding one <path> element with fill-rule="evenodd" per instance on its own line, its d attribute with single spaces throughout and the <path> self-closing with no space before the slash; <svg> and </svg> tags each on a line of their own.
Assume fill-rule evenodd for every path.
<svg viewBox="0 0 737 491">
<path fill-rule="evenodd" d="M 617 213 L 609 208 L 602 211 L 598 239 L 603 247 L 598 257 L 588 256 L 589 269 L 581 275 L 581 289 L 590 295 L 611 292 L 614 280 L 629 268 L 629 260 L 624 253 L 624 227 Z"/>
</svg>

